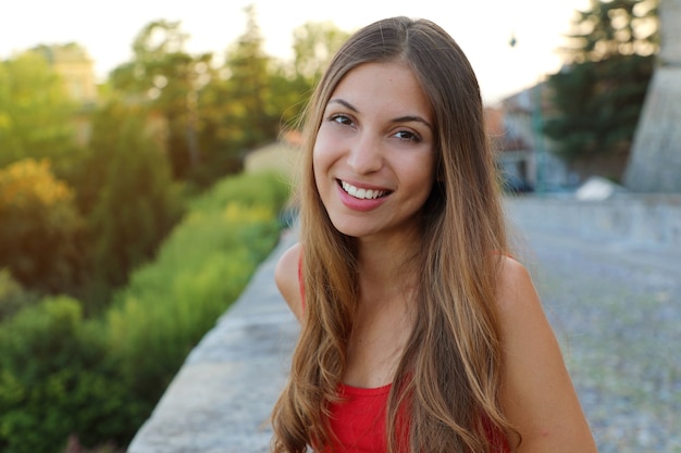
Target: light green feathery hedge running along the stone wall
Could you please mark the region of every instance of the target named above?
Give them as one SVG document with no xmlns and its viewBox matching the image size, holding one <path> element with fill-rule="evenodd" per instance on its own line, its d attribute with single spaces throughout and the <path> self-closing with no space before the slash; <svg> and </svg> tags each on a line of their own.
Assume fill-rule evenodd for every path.
<svg viewBox="0 0 681 453">
<path fill-rule="evenodd" d="M 271 174 L 223 180 L 190 204 L 157 260 L 115 295 L 111 348 L 149 410 L 275 246 L 287 198 L 287 185 Z"/>
</svg>

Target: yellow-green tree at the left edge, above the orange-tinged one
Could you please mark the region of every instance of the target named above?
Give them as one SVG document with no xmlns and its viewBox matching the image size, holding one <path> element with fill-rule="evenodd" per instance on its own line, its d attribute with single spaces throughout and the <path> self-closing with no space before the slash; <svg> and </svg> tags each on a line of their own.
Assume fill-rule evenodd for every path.
<svg viewBox="0 0 681 453">
<path fill-rule="evenodd" d="M 0 62 L 0 167 L 27 158 L 59 164 L 74 148 L 74 112 L 42 54 L 27 51 Z"/>
</svg>

